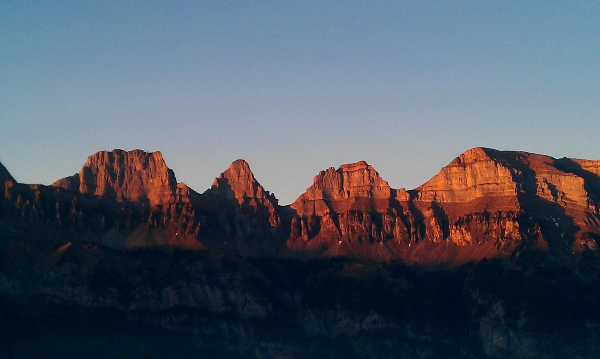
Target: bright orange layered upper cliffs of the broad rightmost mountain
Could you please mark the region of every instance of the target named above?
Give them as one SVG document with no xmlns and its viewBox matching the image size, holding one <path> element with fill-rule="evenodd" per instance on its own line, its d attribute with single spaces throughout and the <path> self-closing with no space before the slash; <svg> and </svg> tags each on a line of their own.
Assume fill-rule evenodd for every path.
<svg viewBox="0 0 600 359">
<path fill-rule="evenodd" d="M 590 170 L 585 169 L 582 163 Z M 486 198 L 488 206 L 500 208 L 506 205 L 506 200 L 539 197 L 565 208 L 577 207 L 594 213 L 598 211 L 598 174 L 593 172 L 598 170 L 597 163 L 571 158 L 557 160 L 527 152 L 473 148 L 455 158 L 416 190 L 418 201 L 422 202 L 452 204 Z M 491 198 L 497 198 L 497 202 L 494 203 Z"/>
</svg>

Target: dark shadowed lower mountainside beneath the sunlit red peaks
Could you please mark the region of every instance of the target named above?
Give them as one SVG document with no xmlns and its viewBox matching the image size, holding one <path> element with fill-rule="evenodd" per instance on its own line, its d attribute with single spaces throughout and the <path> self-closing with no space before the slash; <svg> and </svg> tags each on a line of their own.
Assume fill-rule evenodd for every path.
<svg viewBox="0 0 600 359">
<path fill-rule="evenodd" d="M 55 245 L 37 246 L 41 229 L 7 226 L 0 234 L 2 357 L 600 354 L 599 267 L 583 278 L 538 260 L 444 270 L 85 243 L 48 264 L 47 248 L 61 243 L 61 233 Z"/>
</svg>

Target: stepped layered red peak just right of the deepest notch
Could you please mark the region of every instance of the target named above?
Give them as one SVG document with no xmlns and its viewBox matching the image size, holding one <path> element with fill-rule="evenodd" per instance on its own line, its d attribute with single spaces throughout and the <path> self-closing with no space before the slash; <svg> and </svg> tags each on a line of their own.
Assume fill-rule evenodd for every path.
<svg viewBox="0 0 600 359">
<path fill-rule="evenodd" d="M 313 254 L 389 259 L 391 251 L 381 243 L 410 237 L 410 214 L 395 203 L 396 193 L 365 161 L 322 170 L 290 205 L 295 216 L 287 247 Z"/>
</svg>

